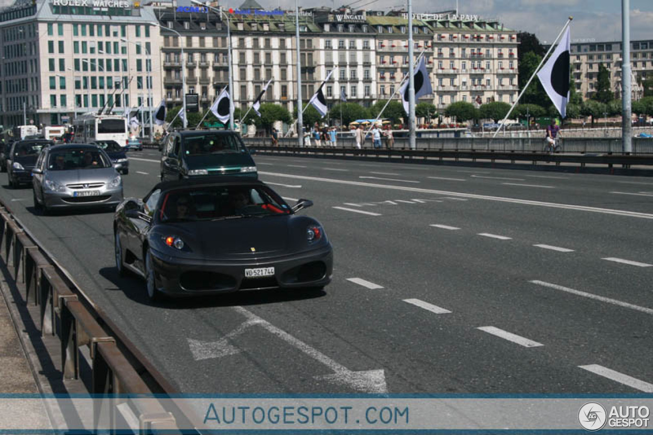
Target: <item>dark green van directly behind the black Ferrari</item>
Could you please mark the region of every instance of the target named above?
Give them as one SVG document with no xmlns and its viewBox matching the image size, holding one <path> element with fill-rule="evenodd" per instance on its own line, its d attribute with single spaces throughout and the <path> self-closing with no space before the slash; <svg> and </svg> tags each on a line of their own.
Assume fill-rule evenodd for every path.
<svg viewBox="0 0 653 435">
<path fill-rule="evenodd" d="M 254 160 L 236 132 L 186 130 L 168 134 L 161 155 L 161 181 L 198 175 L 258 178 Z"/>
</svg>

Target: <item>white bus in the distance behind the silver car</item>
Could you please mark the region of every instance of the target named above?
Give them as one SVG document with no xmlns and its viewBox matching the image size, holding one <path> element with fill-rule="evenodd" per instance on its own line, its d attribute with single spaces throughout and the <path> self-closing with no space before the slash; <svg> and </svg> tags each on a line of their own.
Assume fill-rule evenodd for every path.
<svg viewBox="0 0 653 435">
<path fill-rule="evenodd" d="M 127 145 L 129 128 L 127 118 L 121 115 L 96 115 L 86 113 L 72 121 L 76 143 L 90 143 L 95 140 L 115 140 L 121 147 Z"/>
</svg>

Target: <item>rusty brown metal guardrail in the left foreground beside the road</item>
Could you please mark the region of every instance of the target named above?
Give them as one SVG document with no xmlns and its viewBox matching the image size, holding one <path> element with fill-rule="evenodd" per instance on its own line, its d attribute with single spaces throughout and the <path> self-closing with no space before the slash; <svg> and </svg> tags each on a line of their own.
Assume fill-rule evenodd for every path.
<svg viewBox="0 0 653 435">
<path fill-rule="evenodd" d="M 151 385 L 160 375 L 153 375 L 141 355 L 135 355 L 125 344 L 120 331 L 110 327 L 74 286 L 67 284 L 57 265 L 20 226 L 5 204 L 0 202 L 0 261 L 16 284 L 24 287 L 25 304 L 40 308 L 41 335 L 56 335 L 61 342 L 63 378 L 78 379 L 80 355 L 84 346 L 91 356 L 91 394 L 152 395 L 175 393 L 167 385 Z M 101 324 L 102 323 L 102 324 Z M 127 353 L 125 353 L 127 352 Z M 138 361 L 138 371 L 131 361 Z M 144 380 L 148 378 L 148 382 Z M 109 397 L 109 396 L 108 396 Z M 140 422 L 139 433 L 152 430 L 177 430 L 170 410 L 156 400 L 138 401 L 134 405 Z M 178 412 L 178 410 L 172 410 Z M 176 413 L 175 413 L 176 414 Z M 117 415 L 117 413 L 116 413 Z M 112 418 L 117 418 L 116 415 Z M 97 418 L 95 415 L 94 418 Z"/>
</svg>

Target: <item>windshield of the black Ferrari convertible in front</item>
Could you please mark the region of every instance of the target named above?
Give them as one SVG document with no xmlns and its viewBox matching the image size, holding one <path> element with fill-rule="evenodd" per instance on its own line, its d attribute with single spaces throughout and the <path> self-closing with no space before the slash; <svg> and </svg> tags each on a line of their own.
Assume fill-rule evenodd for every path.
<svg viewBox="0 0 653 435">
<path fill-rule="evenodd" d="M 180 188 L 163 196 L 161 222 L 289 215 L 290 207 L 264 186 Z"/>
</svg>

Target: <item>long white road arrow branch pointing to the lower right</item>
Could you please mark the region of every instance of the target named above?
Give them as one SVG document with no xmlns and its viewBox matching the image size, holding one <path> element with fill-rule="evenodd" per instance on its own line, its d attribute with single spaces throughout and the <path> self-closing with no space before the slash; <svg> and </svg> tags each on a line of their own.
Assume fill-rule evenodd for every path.
<svg viewBox="0 0 653 435">
<path fill-rule="evenodd" d="M 293 337 L 286 331 L 283 331 L 282 329 L 272 325 L 272 323 L 263 320 L 253 312 L 248 311 L 243 307 L 234 307 L 234 310 L 240 312 L 240 314 L 245 316 L 249 322 L 256 322 L 268 332 L 276 335 L 276 337 L 281 338 L 283 341 L 302 351 L 319 363 L 327 366 L 334 372 L 334 374 L 329 374 L 326 376 L 317 376 L 317 379 L 327 380 L 329 382 L 338 383 L 340 385 L 346 385 L 347 387 L 351 387 L 357 391 L 362 391 L 364 393 L 388 392 L 388 388 L 385 383 L 385 373 L 382 368 L 379 370 L 363 370 L 360 372 L 353 372 L 352 370 L 349 370 L 349 368 L 336 363 L 336 361 L 330 359 L 324 353 L 319 352 L 319 350 L 312 348 L 308 344 L 304 343 L 302 340 Z"/>
</svg>

